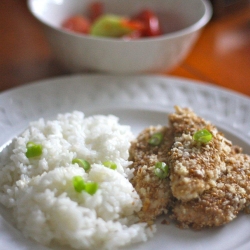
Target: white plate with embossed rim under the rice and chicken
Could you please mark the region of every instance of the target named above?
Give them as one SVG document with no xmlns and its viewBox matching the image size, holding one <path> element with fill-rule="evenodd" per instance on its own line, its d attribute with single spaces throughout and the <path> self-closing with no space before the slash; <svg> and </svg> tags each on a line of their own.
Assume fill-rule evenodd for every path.
<svg viewBox="0 0 250 250">
<path fill-rule="evenodd" d="M 28 84 L 0 94 L 0 147 L 32 120 L 58 113 L 114 114 L 135 134 L 149 125 L 167 123 L 173 106 L 191 107 L 212 121 L 235 144 L 250 153 L 250 99 L 215 86 L 161 76 L 77 75 Z M 1 250 L 45 250 L 25 239 L 0 207 Z M 224 227 L 198 232 L 161 225 L 149 242 L 129 250 L 250 249 L 250 218 L 242 214 Z"/>
</svg>

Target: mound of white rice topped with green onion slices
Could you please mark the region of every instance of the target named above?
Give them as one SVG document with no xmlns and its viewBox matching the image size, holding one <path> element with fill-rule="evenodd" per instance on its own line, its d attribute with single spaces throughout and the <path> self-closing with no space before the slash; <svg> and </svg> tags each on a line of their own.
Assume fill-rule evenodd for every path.
<svg viewBox="0 0 250 250">
<path fill-rule="evenodd" d="M 13 210 L 16 226 L 41 244 L 76 249 L 116 249 L 146 241 L 152 229 L 137 223 L 141 201 L 130 184 L 130 127 L 115 116 L 84 117 L 81 112 L 40 119 L 19 136 L 0 169 L 0 202 Z M 42 144 L 42 156 L 28 159 L 26 144 Z M 72 164 L 83 158 L 89 172 Z M 112 161 L 117 170 L 104 167 Z M 74 176 L 99 184 L 94 195 L 78 193 Z"/>
</svg>

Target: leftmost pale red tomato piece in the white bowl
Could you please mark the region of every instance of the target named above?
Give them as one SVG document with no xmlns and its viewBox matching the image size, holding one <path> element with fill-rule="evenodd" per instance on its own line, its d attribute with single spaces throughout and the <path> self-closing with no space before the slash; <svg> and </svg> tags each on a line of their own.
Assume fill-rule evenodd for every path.
<svg viewBox="0 0 250 250">
<path fill-rule="evenodd" d="M 90 31 L 90 21 L 83 16 L 72 16 L 65 20 L 62 27 L 77 33 L 88 34 Z"/>
</svg>

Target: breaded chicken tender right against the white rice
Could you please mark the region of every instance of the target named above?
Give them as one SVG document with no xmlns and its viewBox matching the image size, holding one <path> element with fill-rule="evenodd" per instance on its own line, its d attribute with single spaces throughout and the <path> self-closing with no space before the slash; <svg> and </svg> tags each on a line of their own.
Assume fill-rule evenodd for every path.
<svg viewBox="0 0 250 250">
<path fill-rule="evenodd" d="M 148 143 L 151 136 L 160 132 L 163 140 L 159 146 Z M 141 221 L 153 224 L 156 216 L 166 213 L 171 196 L 169 179 L 160 179 L 155 175 L 155 164 L 166 162 L 171 146 L 171 134 L 167 127 L 149 127 L 143 130 L 130 148 L 130 160 L 133 161 L 134 177 L 131 180 L 142 200 L 142 209 L 138 216 Z"/>
</svg>

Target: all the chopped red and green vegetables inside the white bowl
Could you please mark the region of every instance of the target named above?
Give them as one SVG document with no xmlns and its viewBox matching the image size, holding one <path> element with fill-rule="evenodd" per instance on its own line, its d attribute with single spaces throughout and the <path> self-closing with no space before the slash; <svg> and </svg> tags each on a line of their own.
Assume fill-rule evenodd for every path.
<svg viewBox="0 0 250 250">
<path fill-rule="evenodd" d="M 113 14 L 105 15 L 104 3 L 98 1 L 90 3 L 85 16 L 72 16 L 62 24 L 62 27 L 82 34 L 125 39 L 162 34 L 159 19 L 151 9 L 144 9 L 132 18 Z"/>
</svg>

